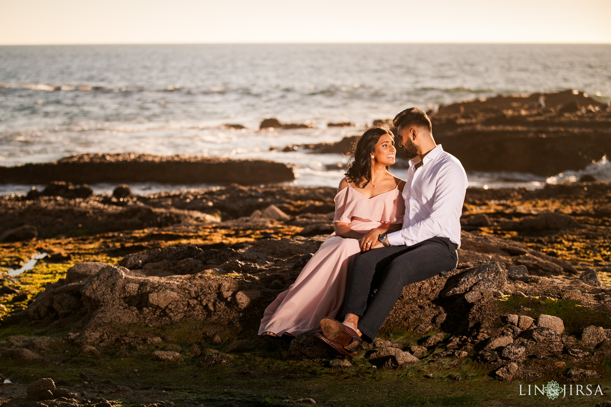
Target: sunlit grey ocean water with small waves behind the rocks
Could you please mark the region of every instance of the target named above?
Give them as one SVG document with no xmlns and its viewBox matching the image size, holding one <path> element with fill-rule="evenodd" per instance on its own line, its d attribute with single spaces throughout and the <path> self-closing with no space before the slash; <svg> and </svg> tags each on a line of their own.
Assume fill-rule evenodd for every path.
<svg viewBox="0 0 611 407">
<path fill-rule="evenodd" d="M 335 142 L 410 106 L 567 88 L 610 101 L 611 45 L 1 46 L 0 165 L 126 151 L 260 158 L 293 165 L 297 185 L 335 186 L 343 171 L 326 165 L 345 157 L 274 148 Z M 315 128 L 259 131 L 268 117 Z M 355 126 L 327 127 L 339 121 Z M 609 167 L 590 170 L 611 179 Z M 491 188 L 576 176 L 468 175 Z"/>
</svg>

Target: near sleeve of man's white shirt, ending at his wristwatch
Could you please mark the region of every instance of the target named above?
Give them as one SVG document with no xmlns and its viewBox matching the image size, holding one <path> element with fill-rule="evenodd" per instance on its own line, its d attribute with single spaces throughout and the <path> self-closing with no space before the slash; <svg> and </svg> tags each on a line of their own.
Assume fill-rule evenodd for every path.
<svg viewBox="0 0 611 407">
<path fill-rule="evenodd" d="M 463 168 L 448 165 L 440 171 L 433 196 L 433 205 L 428 217 L 400 231 L 387 235 L 390 245 L 415 245 L 431 237 L 442 236 L 442 231 L 451 220 L 458 220 L 463 209 L 467 179 Z M 409 204 L 406 202 L 406 204 Z"/>
</svg>

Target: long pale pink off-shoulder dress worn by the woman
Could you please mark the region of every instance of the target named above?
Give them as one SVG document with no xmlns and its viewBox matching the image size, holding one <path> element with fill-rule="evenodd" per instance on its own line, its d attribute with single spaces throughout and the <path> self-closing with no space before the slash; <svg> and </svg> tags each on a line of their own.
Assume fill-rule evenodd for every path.
<svg viewBox="0 0 611 407">
<path fill-rule="evenodd" d="M 367 198 L 351 186 L 335 195 L 333 222 L 350 229 L 371 229 L 403 223 L 405 204 L 398 188 Z M 335 318 L 343 308 L 352 264 L 360 253 L 359 240 L 327 237 L 288 290 L 280 293 L 263 313 L 259 335 L 273 332 L 295 336 L 320 332 L 320 320 Z"/>
</svg>

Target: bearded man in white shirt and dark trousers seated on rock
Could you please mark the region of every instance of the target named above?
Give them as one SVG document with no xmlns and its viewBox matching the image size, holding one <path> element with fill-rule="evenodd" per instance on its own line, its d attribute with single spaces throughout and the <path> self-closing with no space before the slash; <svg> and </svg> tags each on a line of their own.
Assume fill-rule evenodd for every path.
<svg viewBox="0 0 611 407">
<path fill-rule="evenodd" d="M 362 340 L 373 342 L 404 286 L 458 263 L 459 218 L 467 189 L 464 168 L 436 145 L 431 121 L 422 110 L 403 110 L 393 124 L 398 144 L 410 159 L 403 229 L 379 235 L 378 242 L 355 259 L 343 323 L 321 320 L 324 337 L 319 339 L 339 353 L 350 353 Z M 377 291 L 371 295 L 373 289 Z"/>
</svg>

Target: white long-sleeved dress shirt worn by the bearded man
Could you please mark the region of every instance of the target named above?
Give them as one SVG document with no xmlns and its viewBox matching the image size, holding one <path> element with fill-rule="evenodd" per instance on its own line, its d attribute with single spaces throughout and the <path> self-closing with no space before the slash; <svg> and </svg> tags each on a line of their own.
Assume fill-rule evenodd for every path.
<svg viewBox="0 0 611 407">
<path fill-rule="evenodd" d="M 460 216 L 469 185 L 463 165 L 446 153 L 441 144 L 426 154 L 416 169 L 419 162 L 419 156 L 409 161 L 403 188 L 403 229 L 389 233 L 388 242 L 393 246 L 412 246 L 441 236 L 460 246 Z"/>
</svg>

